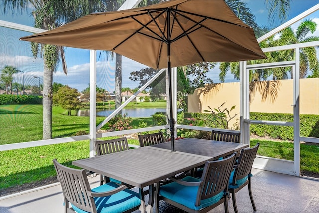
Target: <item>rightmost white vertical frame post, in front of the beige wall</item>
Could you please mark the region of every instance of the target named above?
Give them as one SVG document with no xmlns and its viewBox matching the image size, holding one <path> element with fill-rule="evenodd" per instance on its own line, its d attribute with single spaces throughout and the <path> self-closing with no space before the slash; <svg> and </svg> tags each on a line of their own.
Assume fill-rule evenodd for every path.
<svg viewBox="0 0 319 213">
<path fill-rule="evenodd" d="M 293 73 L 294 103 L 294 169 L 296 176 L 300 176 L 300 116 L 299 116 L 299 48 L 295 48 L 295 66 Z"/>
</svg>

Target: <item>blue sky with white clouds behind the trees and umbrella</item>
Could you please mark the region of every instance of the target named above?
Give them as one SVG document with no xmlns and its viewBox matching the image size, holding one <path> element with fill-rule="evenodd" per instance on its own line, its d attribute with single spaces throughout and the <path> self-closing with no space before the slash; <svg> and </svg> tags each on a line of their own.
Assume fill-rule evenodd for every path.
<svg viewBox="0 0 319 213">
<path fill-rule="evenodd" d="M 268 26 L 268 11 L 265 7 L 264 0 L 245 0 L 252 13 L 256 16 L 258 25 Z M 305 10 L 316 5 L 318 0 L 292 0 L 289 19 L 294 18 Z M 317 31 L 315 35 L 319 36 L 319 11 L 310 15 L 317 22 Z M 0 19 L 14 23 L 33 26 L 33 17 L 29 14 L 14 15 L 9 12 L 7 15 L 1 9 Z M 292 27 L 296 28 L 299 23 Z M 13 65 L 25 73 L 25 83 L 30 85 L 38 85 L 39 79 L 33 76 L 39 76 L 40 82 L 43 82 L 43 62 L 42 59 L 34 59 L 30 51 L 30 43 L 19 41 L 22 36 L 30 35 L 28 32 L 0 27 L 0 69 L 5 65 Z M 89 84 L 89 50 L 66 48 L 66 61 L 68 67 L 68 75 L 65 75 L 61 66 L 53 74 L 53 81 L 69 85 L 82 91 Z M 99 55 L 99 51 L 97 52 Z M 129 73 L 132 71 L 146 68 L 145 65 L 134 62 L 126 57 L 122 57 L 122 87 L 137 87 L 138 83 L 129 80 Z M 115 60 L 105 60 L 102 55 L 97 62 L 97 86 L 114 91 L 114 69 Z M 209 72 L 208 77 L 213 79 L 214 83 L 220 82 L 218 79 L 219 69 L 216 66 Z M 22 83 L 22 74 L 17 74 L 15 80 Z M 235 81 L 233 75 L 227 74 L 226 82 Z"/>
</svg>

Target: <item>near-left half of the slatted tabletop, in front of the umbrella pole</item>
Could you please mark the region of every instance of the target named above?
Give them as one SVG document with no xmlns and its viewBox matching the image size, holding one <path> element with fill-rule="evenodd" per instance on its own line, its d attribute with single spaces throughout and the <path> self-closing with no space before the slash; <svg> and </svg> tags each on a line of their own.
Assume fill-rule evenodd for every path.
<svg viewBox="0 0 319 213">
<path fill-rule="evenodd" d="M 76 160 L 73 165 L 143 188 L 209 159 L 209 156 L 147 146 Z"/>
</svg>

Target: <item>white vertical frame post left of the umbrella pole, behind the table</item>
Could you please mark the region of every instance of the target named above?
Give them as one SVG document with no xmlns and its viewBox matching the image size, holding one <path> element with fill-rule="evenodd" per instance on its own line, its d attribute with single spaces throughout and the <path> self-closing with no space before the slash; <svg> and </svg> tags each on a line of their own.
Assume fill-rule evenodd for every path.
<svg viewBox="0 0 319 213">
<path fill-rule="evenodd" d="M 90 157 L 96 140 L 96 50 L 90 50 Z"/>
</svg>

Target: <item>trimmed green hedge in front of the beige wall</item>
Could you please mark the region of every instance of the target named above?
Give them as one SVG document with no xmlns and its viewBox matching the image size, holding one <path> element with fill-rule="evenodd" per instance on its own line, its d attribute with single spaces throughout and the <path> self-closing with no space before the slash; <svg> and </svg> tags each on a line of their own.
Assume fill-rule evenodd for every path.
<svg viewBox="0 0 319 213">
<path fill-rule="evenodd" d="M 251 120 L 293 122 L 293 114 L 251 112 Z M 294 128 L 288 126 L 251 124 L 250 132 L 274 139 L 294 140 Z M 300 136 L 319 138 L 319 115 L 300 115 Z"/>
</svg>

